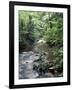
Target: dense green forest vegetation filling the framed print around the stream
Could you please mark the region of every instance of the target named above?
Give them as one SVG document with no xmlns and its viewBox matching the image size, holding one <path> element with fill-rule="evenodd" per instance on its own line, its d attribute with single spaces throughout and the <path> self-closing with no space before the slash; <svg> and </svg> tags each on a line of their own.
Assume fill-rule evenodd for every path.
<svg viewBox="0 0 72 90">
<path fill-rule="evenodd" d="M 34 62 L 33 69 L 44 73 L 50 70 L 58 76 L 62 74 L 63 14 L 19 11 L 19 52 L 22 51 L 36 51 L 41 54 L 40 59 Z M 43 60 L 43 55 L 48 62 Z"/>
</svg>

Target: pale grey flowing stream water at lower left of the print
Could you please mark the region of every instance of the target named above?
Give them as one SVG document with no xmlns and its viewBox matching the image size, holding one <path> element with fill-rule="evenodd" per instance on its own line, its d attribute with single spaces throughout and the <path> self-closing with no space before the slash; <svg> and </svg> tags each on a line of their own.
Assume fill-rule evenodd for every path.
<svg viewBox="0 0 72 90">
<path fill-rule="evenodd" d="M 33 51 L 22 52 L 19 55 L 19 79 L 36 78 L 39 74 L 33 70 L 33 62 L 39 59 L 40 54 Z"/>
</svg>

